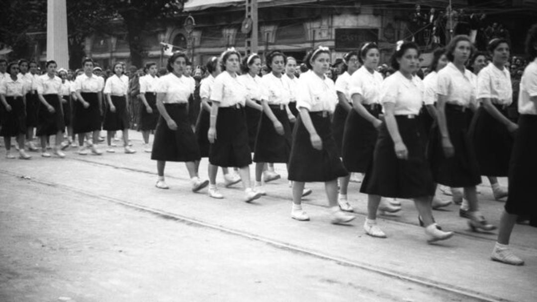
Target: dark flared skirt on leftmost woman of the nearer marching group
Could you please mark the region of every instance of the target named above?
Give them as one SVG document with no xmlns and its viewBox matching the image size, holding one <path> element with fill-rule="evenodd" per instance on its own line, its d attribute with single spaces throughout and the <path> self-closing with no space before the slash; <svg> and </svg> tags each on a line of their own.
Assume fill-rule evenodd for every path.
<svg viewBox="0 0 537 302">
<path fill-rule="evenodd" d="M 177 124 L 177 130 L 168 128 L 166 120 L 159 117 L 151 159 L 183 162 L 200 160 L 200 150 L 188 120 L 186 104 L 164 104 L 164 107 Z"/>
</svg>

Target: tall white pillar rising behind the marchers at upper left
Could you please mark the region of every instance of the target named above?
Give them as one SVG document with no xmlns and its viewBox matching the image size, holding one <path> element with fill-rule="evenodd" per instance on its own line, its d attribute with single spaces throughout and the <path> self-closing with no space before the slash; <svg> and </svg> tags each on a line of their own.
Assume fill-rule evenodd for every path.
<svg viewBox="0 0 537 302">
<path fill-rule="evenodd" d="M 66 0 L 47 0 L 47 61 L 69 68 Z"/>
</svg>

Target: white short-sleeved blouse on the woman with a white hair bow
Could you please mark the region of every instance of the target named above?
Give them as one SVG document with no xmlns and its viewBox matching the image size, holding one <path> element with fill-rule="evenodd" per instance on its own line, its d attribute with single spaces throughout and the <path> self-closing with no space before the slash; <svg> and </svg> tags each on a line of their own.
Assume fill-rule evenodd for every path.
<svg viewBox="0 0 537 302">
<path fill-rule="evenodd" d="M 423 93 L 423 82 L 417 76 L 408 79 L 397 71 L 382 83 L 380 100 L 382 104 L 395 104 L 395 115 L 418 115 L 423 106 Z"/>
</svg>

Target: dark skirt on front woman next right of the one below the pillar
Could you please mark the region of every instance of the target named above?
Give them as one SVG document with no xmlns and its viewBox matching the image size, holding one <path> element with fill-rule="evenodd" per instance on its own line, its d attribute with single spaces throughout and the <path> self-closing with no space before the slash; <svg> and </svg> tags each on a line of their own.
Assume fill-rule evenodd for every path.
<svg viewBox="0 0 537 302">
<path fill-rule="evenodd" d="M 75 134 L 98 131 L 101 129 L 101 115 L 99 99 L 96 92 L 81 92 L 82 98 L 90 106 L 84 108 L 82 102 L 77 100 L 73 108 L 72 130 Z"/>
</svg>

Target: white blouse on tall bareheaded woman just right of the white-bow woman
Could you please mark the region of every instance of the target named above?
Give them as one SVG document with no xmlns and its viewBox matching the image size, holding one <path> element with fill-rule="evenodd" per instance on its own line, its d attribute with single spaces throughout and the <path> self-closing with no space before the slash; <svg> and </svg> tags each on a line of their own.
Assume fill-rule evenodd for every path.
<svg viewBox="0 0 537 302">
<path fill-rule="evenodd" d="M 465 68 L 461 72 L 453 62 L 438 71 L 437 94 L 447 96 L 449 104 L 468 107 L 475 102 L 475 76 Z"/>
</svg>

